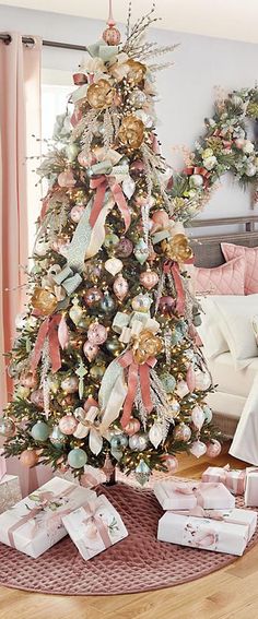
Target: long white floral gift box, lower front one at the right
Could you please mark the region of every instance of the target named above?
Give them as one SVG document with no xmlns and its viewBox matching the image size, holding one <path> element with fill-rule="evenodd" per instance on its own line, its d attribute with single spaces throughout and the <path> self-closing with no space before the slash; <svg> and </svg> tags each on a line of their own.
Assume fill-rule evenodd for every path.
<svg viewBox="0 0 258 619">
<path fill-rule="evenodd" d="M 157 539 L 215 552 L 243 555 L 256 531 L 256 512 L 220 510 L 214 515 L 221 520 L 166 512 L 159 522 Z"/>
</svg>

